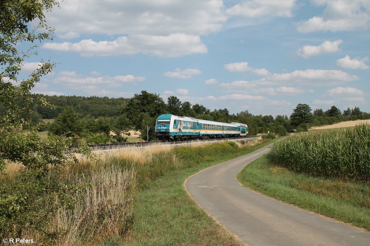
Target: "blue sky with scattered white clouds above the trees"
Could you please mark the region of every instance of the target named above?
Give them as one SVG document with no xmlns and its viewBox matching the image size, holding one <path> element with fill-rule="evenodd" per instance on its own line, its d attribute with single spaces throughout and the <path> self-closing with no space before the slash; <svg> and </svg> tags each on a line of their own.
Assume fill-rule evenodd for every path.
<svg viewBox="0 0 370 246">
<path fill-rule="evenodd" d="M 64 0 L 46 20 L 56 37 L 22 72 L 58 64 L 34 93 L 370 112 L 370 0 Z"/>
</svg>

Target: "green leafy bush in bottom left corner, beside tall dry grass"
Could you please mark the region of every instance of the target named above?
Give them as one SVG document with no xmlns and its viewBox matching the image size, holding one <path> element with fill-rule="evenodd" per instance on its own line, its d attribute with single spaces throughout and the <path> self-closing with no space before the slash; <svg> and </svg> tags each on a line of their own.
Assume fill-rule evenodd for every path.
<svg viewBox="0 0 370 246">
<path fill-rule="evenodd" d="M 64 233 L 48 230 L 51 215 L 60 208 L 71 209 L 74 201 L 75 187 L 65 182 L 58 169 L 39 177 L 25 168 L 1 185 L 0 234 L 7 238 L 33 238 L 37 232 L 41 241 L 49 244 Z"/>
</svg>

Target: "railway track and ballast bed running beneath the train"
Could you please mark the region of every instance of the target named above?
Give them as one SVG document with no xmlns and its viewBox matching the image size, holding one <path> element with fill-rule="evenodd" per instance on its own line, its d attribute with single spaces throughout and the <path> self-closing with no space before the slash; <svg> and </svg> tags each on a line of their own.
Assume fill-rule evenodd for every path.
<svg viewBox="0 0 370 246">
<path fill-rule="evenodd" d="M 183 140 L 183 141 L 154 141 L 154 142 L 135 142 L 135 143 L 108 143 L 108 144 L 94 144 L 88 145 L 92 150 L 109 150 L 109 149 L 121 149 L 126 147 L 145 147 L 153 144 L 164 143 L 164 144 L 181 144 L 181 143 L 190 143 L 192 141 L 200 142 L 212 142 L 219 140 L 243 140 L 249 138 L 258 138 L 260 136 L 247 136 L 247 137 L 238 137 L 238 138 L 212 138 L 212 139 L 202 139 L 202 140 Z M 80 147 L 80 145 L 72 145 L 68 147 L 68 150 L 74 150 Z"/>
</svg>

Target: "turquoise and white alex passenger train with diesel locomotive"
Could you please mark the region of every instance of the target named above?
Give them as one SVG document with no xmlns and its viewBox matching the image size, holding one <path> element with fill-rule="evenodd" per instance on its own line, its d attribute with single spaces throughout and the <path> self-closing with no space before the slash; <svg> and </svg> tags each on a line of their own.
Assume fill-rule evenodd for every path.
<svg viewBox="0 0 370 246">
<path fill-rule="evenodd" d="M 162 114 L 155 122 L 155 136 L 164 141 L 240 137 L 248 136 L 248 126 L 237 122 L 223 123 L 175 114 Z"/>
</svg>

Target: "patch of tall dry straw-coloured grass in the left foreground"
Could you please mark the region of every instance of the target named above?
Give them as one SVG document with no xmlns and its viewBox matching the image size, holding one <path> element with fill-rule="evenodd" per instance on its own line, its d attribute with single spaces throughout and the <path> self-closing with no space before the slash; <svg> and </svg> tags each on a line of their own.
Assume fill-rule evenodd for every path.
<svg viewBox="0 0 370 246">
<path fill-rule="evenodd" d="M 74 184 L 88 185 L 77 191 L 76 197 L 83 199 L 77 201 L 73 210 L 61 208 L 53 215 L 54 226 L 50 230 L 67 232 L 56 245 L 97 245 L 98 238 L 124 236 L 132 225 L 135 171 L 101 167 L 91 177 L 70 179 Z"/>
</svg>

